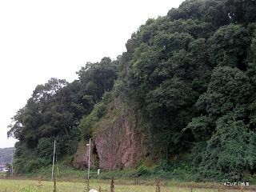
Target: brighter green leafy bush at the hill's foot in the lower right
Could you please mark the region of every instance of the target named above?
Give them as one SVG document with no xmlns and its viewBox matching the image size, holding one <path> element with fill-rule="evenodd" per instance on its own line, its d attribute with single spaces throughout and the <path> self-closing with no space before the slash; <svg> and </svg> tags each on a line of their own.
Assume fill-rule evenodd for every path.
<svg viewBox="0 0 256 192">
<path fill-rule="evenodd" d="M 255 133 L 241 120 L 219 118 L 216 132 L 207 142 L 200 171 L 207 178 L 230 178 L 235 182 L 254 171 Z"/>
</svg>

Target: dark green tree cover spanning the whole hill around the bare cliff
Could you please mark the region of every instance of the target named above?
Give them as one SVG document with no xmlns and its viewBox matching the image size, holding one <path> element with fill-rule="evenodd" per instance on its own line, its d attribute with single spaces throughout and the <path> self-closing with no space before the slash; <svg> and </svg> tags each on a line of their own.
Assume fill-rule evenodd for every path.
<svg viewBox="0 0 256 192">
<path fill-rule="evenodd" d="M 37 86 L 14 116 L 17 171 L 50 163 L 54 139 L 59 156 L 73 155 L 118 98 L 150 146 L 145 158 L 163 170 L 182 158 L 201 180 L 256 172 L 254 0 L 186 0 L 148 19 L 116 60 L 87 63 L 78 77 Z"/>
</svg>

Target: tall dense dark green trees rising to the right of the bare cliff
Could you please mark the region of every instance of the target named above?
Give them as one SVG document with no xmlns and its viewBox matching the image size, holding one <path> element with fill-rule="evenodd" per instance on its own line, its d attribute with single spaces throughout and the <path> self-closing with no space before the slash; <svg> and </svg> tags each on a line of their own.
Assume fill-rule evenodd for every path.
<svg viewBox="0 0 256 192">
<path fill-rule="evenodd" d="M 255 4 L 186 0 L 149 19 L 122 54 L 115 93 L 134 102 L 160 154 L 192 150 L 206 178 L 254 174 Z"/>
</svg>

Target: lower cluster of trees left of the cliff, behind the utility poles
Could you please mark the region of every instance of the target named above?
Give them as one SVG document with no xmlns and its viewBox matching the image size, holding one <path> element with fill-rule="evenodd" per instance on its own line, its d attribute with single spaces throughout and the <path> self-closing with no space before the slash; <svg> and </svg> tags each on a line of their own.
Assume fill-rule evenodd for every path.
<svg viewBox="0 0 256 192">
<path fill-rule="evenodd" d="M 26 106 L 14 115 L 8 132 L 9 137 L 19 140 L 17 171 L 30 171 L 50 163 L 54 140 L 61 156 L 74 154 L 82 139 L 78 129 L 80 119 L 90 114 L 106 90 L 112 89 L 117 67 L 118 61 L 102 58 L 101 62 L 82 67 L 79 81 L 68 83 L 51 78 L 35 88 Z"/>
</svg>

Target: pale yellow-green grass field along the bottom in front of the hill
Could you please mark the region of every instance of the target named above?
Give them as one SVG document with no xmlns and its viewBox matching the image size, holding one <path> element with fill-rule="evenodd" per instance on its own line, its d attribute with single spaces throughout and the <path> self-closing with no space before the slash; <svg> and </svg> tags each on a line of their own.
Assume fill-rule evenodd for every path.
<svg viewBox="0 0 256 192">
<path fill-rule="evenodd" d="M 161 192 L 239 192 L 239 191 L 252 191 L 252 190 L 229 190 L 228 187 L 206 189 L 206 188 L 193 188 L 182 186 L 160 186 Z M 104 182 L 99 180 L 90 180 L 90 189 L 99 190 L 107 192 L 110 191 L 110 182 Z M 56 189 L 58 192 L 85 192 L 87 189 L 86 183 L 82 182 L 56 182 Z M 54 182 L 53 181 L 42 181 L 38 182 L 37 180 L 12 180 L 12 179 L 0 179 L 0 192 L 45 192 L 45 191 L 54 191 Z M 155 192 L 156 186 L 154 185 L 132 185 L 126 183 L 117 183 L 114 185 L 115 192 Z"/>
</svg>

